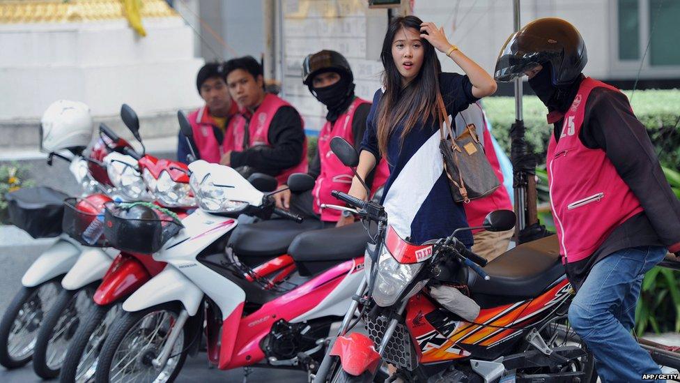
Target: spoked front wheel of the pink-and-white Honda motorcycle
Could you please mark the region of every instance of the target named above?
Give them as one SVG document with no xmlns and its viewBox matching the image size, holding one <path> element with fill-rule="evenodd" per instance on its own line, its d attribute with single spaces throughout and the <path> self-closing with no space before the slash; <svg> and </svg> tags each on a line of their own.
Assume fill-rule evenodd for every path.
<svg viewBox="0 0 680 383">
<path fill-rule="evenodd" d="M 180 309 L 163 304 L 116 320 L 97 363 L 96 382 L 172 382 L 180 373 L 190 344 L 189 333 L 181 329 L 164 366 L 155 366 L 175 325 Z"/>
</svg>

